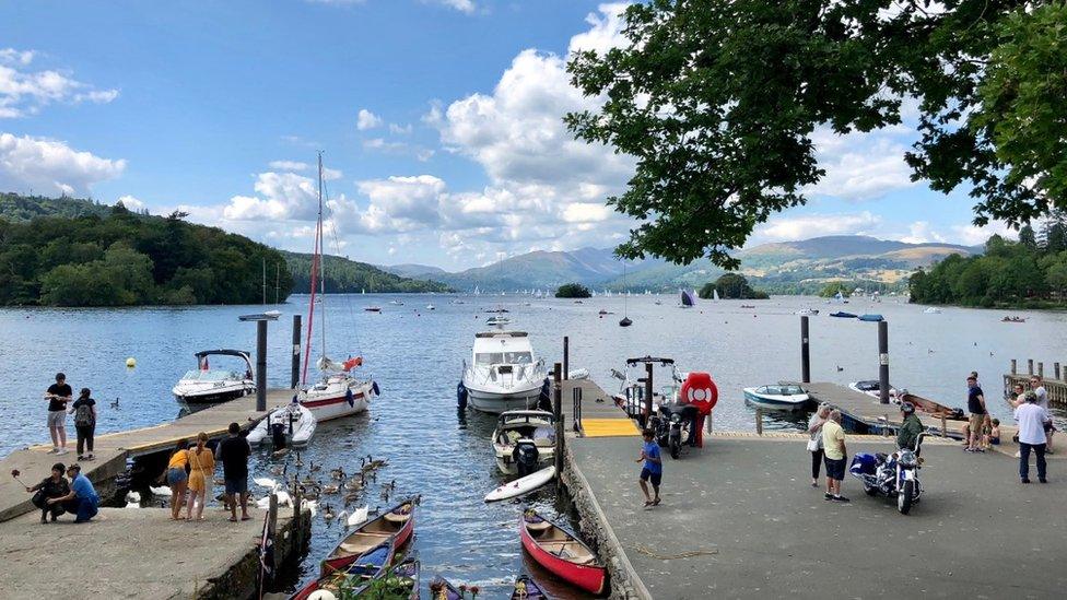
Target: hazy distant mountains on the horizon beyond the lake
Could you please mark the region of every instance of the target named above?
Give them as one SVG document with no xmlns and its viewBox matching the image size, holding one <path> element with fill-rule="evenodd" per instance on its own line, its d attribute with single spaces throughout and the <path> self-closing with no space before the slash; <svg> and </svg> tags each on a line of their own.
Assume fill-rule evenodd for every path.
<svg viewBox="0 0 1067 600">
<path fill-rule="evenodd" d="M 833 235 L 799 242 L 761 244 L 737 252 L 741 273 L 752 284 L 772 293 L 810 293 L 826 281 L 849 280 L 899 285 L 919 267 L 959 254 L 981 254 L 982 247 L 952 244 L 908 244 L 860 235 Z M 432 277 L 435 281 L 470 291 L 485 292 L 555 289 L 570 282 L 594 290 L 675 291 L 696 289 L 723 274 L 708 260 L 681 266 L 660 259 L 622 262 L 610 249 L 582 248 L 572 251 L 535 251 L 503 263 L 449 273 L 434 267 L 400 264 L 383 270 L 409 277 Z"/>
</svg>

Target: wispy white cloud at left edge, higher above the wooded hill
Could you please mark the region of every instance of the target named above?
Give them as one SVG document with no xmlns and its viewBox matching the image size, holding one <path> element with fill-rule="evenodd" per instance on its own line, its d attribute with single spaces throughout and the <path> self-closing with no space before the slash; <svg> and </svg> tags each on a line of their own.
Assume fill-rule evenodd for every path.
<svg viewBox="0 0 1067 600">
<path fill-rule="evenodd" d="M 33 50 L 0 49 L 0 118 L 35 115 L 49 104 L 106 104 L 118 90 L 96 90 L 69 73 L 45 69 L 34 71 Z"/>
</svg>

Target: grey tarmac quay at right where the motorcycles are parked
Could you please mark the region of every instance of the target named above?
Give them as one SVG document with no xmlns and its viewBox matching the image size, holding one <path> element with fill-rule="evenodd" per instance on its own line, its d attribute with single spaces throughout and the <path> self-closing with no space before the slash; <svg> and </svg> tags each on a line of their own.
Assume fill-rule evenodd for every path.
<svg viewBox="0 0 1067 600">
<path fill-rule="evenodd" d="M 656 599 L 1064 598 L 1067 470 L 1019 483 L 1018 459 L 927 444 L 922 502 L 868 497 L 847 475 L 839 504 L 811 487 L 801 436 L 705 437 L 703 449 L 665 454 L 663 504 L 646 509 L 633 437 L 570 438 L 642 583 Z M 891 451 L 849 436 L 856 451 Z M 823 480 L 824 481 L 824 480 Z"/>
</svg>

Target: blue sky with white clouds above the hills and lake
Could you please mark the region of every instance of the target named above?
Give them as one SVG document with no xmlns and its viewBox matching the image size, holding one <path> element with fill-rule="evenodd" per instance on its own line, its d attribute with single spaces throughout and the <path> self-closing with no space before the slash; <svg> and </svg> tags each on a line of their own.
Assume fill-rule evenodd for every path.
<svg viewBox="0 0 1067 600">
<path fill-rule="evenodd" d="M 581 0 L 0 3 L 0 190 L 77 196 L 309 251 L 460 270 L 611 247 L 630 158 L 574 140 L 577 49 L 624 4 Z M 982 244 L 966 190 L 910 180 L 905 125 L 816 130 L 826 176 L 750 245 L 831 234 Z"/>
</svg>

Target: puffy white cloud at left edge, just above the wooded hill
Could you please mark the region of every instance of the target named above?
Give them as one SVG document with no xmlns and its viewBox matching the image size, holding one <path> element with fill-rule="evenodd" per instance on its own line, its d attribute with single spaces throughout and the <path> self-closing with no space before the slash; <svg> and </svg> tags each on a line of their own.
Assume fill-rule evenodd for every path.
<svg viewBox="0 0 1067 600">
<path fill-rule="evenodd" d="M 0 189 L 86 193 L 93 184 L 125 169 L 125 160 L 102 158 L 66 142 L 0 133 Z"/>
</svg>

